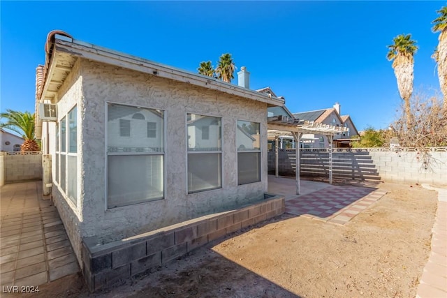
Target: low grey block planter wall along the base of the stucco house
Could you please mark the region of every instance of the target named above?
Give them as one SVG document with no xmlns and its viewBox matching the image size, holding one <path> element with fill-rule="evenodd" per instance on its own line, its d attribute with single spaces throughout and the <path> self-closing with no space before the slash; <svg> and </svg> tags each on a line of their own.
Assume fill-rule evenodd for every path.
<svg viewBox="0 0 447 298">
<path fill-rule="evenodd" d="M 264 202 L 242 209 L 202 216 L 129 239 L 98 245 L 82 243 L 82 272 L 92 292 L 144 274 L 195 248 L 284 213 L 284 197 L 265 195 Z"/>
</svg>

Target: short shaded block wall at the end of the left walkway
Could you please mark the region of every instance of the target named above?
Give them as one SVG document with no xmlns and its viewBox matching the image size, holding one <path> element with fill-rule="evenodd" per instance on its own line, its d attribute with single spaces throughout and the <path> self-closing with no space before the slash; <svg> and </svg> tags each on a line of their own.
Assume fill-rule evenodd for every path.
<svg viewBox="0 0 447 298">
<path fill-rule="evenodd" d="M 42 154 L 4 156 L 5 183 L 42 179 Z"/>
</svg>

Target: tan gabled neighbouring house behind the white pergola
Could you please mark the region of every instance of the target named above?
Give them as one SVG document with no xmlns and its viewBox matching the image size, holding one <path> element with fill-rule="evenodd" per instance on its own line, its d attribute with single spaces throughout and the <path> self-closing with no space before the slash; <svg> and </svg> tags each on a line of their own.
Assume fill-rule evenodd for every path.
<svg viewBox="0 0 447 298">
<path fill-rule="evenodd" d="M 349 131 L 341 135 L 334 136 L 333 147 L 351 147 L 351 137 L 358 135 L 356 126 L 349 115 L 340 116 L 340 105 L 335 103 L 333 107 L 323 110 L 294 113 L 297 119 L 314 121 L 318 124 L 328 124 L 332 126 L 344 126 Z M 303 148 L 328 148 L 328 137 L 324 135 L 305 134 L 302 136 Z"/>
</svg>

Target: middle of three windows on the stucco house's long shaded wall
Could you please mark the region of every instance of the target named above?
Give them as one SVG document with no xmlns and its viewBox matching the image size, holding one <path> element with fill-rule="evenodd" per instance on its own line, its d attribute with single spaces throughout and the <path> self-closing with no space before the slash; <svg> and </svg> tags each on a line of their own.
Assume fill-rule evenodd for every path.
<svg viewBox="0 0 447 298">
<path fill-rule="evenodd" d="M 221 118 L 186 114 L 188 193 L 222 187 Z"/>
</svg>

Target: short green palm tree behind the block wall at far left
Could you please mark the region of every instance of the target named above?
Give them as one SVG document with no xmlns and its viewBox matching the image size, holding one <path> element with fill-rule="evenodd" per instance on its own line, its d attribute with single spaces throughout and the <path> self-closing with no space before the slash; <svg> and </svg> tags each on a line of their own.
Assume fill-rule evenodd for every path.
<svg viewBox="0 0 447 298">
<path fill-rule="evenodd" d="M 11 131 L 20 133 L 24 138 L 25 141 L 20 147 L 21 151 L 40 150 L 34 135 L 34 114 L 6 110 L 6 112 L 0 113 L 0 118 L 6 119 L 5 123 L 0 123 L 1 128 L 8 128 Z"/>
</svg>

